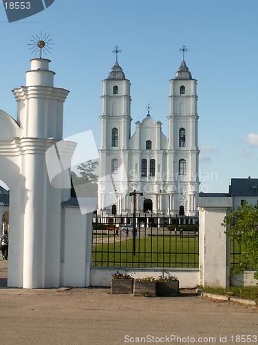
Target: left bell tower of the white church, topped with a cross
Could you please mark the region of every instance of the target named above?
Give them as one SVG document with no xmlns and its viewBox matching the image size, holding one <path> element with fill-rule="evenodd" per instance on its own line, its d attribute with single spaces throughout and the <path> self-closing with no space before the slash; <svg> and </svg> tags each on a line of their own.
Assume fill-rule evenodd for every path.
<svg viewBox="0 0 258 345">
<path fill-rule="evenodd" d="M 99 150 L 98 208 L 118 204 L 114 190 L 127 189 L 128 148 L 131 135 L 130 81 L 116 62 L 107 79 L 103 80 L 101 141 Z M 119 179 L 119 181 L 118 181 Z M 114 187 L 116 185 L 116 187 Z"/>
</svg>

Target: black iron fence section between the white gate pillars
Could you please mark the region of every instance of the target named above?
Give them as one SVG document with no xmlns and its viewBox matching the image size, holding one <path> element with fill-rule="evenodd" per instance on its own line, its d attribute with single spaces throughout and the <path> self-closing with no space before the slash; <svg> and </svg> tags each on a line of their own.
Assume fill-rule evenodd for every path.
<svg viewBox="0 0 258 345">
<path fill-rule="evenodd" d="M 136 215 L 133 236 L 132 215 L 94 215 L 93 229 L 92 266 L 199 267 L 197 218 Z"/>
</svg>

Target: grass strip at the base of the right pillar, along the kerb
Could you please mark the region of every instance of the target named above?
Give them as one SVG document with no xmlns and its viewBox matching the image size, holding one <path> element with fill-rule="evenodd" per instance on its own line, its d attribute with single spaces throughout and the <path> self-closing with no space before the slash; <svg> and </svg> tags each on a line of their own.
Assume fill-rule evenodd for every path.
<svg viewBox="0 0 258 345">
<path fill-rule="evenodd" d="M 207 293 L 215 293 L 217 295 L 228 295 L 230 297 L 252 299 L 258 302 L 258 286 L 233 287 L 230 288 L 209 288 L 204 287 L 202 290 Z"/>
</svg>

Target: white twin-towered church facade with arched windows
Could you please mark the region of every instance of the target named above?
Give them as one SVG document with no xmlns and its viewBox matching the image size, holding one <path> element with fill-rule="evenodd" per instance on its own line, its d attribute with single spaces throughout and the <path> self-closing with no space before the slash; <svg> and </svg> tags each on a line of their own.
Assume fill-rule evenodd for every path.
<svg viewBox="0 0 258 345">
<path fill-rule="evenodd" d="M 116 61 L 101 96 L 99 214 L 131 214 L 129 194 L 136 190 L 137 213 L 195 217 L 200 185 L 196 85 L 183 59 L 170 80 L 168 137 L 149 111 L 131 135 L 131 84 Z"/>
</svg>

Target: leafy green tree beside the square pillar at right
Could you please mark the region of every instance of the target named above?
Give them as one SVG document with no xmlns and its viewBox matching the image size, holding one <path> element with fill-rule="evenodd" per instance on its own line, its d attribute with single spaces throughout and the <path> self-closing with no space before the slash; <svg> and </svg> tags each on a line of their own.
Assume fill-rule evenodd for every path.
<svg viewBox="0 0 258 345">
<path fill-rule="evenodd" d="M 243 205 L 224 218 L 223 226 L 230 226 L 226 237 L 241 244 L 239 264 L 233 269 L 233 273 L 242 273 L 251 266 L 258 268 L 258 206 Z M 258 271 L 254 275 L 258 279 Z"/>
</svg>

